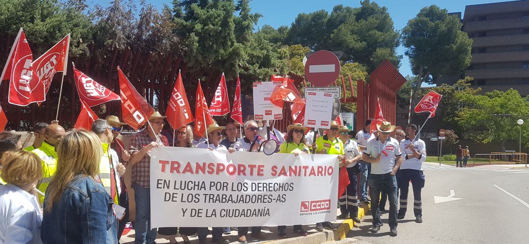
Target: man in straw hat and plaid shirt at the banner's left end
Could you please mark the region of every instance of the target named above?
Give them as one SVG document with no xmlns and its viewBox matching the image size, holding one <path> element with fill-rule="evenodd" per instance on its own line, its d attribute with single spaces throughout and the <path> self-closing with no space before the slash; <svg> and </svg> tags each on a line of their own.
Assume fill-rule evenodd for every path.
<svg viewBox="0 0 529 244">
<path fill-rule="evenodd" d="M 151 229 L 151 194 L 150 194 L 150 171 L 151 171 L 151 149 L 160 146 L 169 146 L 165 135 L 160 134 L 167 116 L 160 112 L 154 112 L 145 126 L 145 130 L 136 133 L 130 141 L 132 156 L 129 163 L 132 164 L 132 187 L 134 188 L 134 200 L 136 202 L 136 218 L 134 231 L 136 232 L 134 243 L 154 243 L 156 240 L 156 229 Z"/>
</svg>

